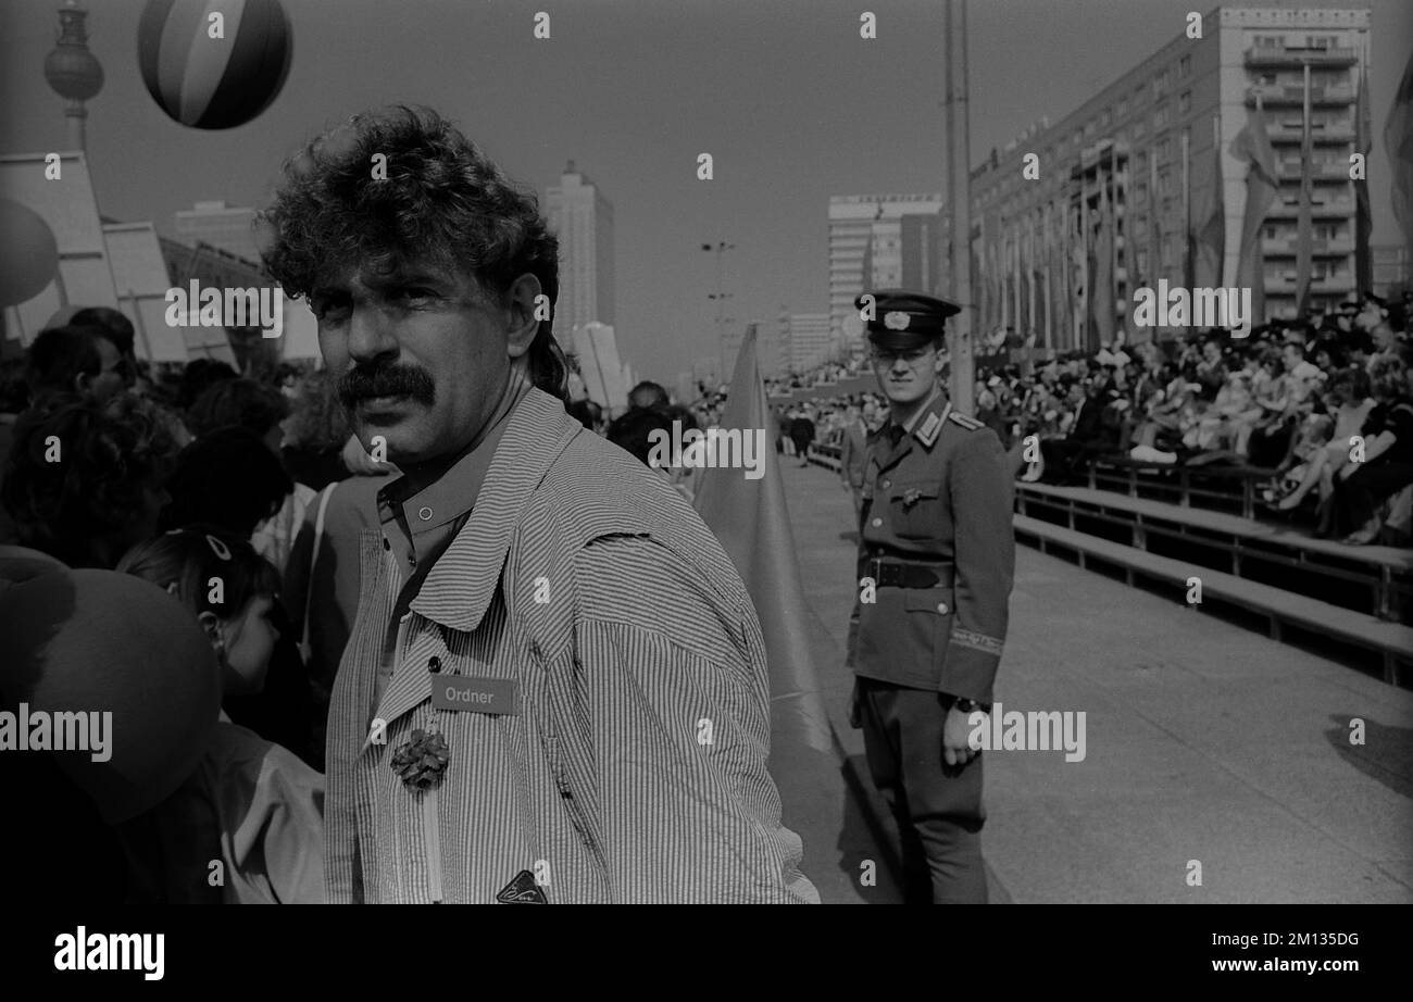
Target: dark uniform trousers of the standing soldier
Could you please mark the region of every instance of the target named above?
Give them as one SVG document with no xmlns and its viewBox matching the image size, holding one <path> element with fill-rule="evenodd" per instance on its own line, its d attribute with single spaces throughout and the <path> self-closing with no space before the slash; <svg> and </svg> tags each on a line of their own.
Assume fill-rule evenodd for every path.
<svg viewBox="0 0 1413 1002">
<path fill-rule="evenodd" d="M 904 902 L 985 904 L 982 756 L 945 766 L 935 691 L 859 677 L 855 692 L 869 773 L 903 841 Z"/>
</svg>

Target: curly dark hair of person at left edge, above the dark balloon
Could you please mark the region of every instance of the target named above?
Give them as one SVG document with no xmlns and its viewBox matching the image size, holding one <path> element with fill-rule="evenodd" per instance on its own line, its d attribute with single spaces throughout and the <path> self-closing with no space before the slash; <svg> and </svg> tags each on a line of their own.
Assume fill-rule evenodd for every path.
<svg viewBox="0 0 1413 1002">
<path fill-rule="evenodd" d="M 167 415 L 141 397 L 54 396 L 16 421 L 0 500 L 24 546 L 73 567 L 109 562 L 95 541 L 141 529 L 175 456 Z"/>
</svg>

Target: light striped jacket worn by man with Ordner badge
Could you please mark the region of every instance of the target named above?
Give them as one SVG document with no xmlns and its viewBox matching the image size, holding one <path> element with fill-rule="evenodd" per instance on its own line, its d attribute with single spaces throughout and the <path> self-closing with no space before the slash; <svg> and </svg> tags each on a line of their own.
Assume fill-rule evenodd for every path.
<svg viewBox="0 0 1413 1002">
<path fill-rule="evenodd" d="M 554 397 L 507 420 L 376 707 L 400 582 L 362 534 L 329 712 L 329 900 L 817 902 L 766 772 L 766 649 L 729 558 Z M 513 685 L 519 712 L 434 709 L 452 674 Z M 415 793 L 390 762 L 430 724 L 451 760 Z"/>
</svg>

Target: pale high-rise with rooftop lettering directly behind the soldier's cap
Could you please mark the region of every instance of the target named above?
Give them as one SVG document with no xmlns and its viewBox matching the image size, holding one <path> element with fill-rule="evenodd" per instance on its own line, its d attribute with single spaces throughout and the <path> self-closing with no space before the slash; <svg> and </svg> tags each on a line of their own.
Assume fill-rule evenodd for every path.
<svg viewBox="0 0 1413 1002">
<path fill-rule="evenodd" d="M 845 338 L 844 319 L 866 288 L 941 293 L 945 226 L 941 195 L 829 198 L 829 329 Z M 856 335 L 848 341 L 862 343 Z"/>
</svg>

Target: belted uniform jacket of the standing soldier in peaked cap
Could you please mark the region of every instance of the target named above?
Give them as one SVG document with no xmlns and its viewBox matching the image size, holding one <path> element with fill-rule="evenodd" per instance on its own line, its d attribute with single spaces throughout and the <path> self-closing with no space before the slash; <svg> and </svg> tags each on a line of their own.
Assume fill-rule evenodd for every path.
<svg viewBox="0 0 1413 1002">
<path fill-rule="evenodd" d="M 941 394 L 897 447 L 890 427 L 869 437 L 858 577 L 876 557 L 937 568 L 944 581 L 880 587 L 875 602 L 856 602 L 849 663 L 869 678 L 989 704 L 1016 564 L 1000 440 Z"/>
</svg>

